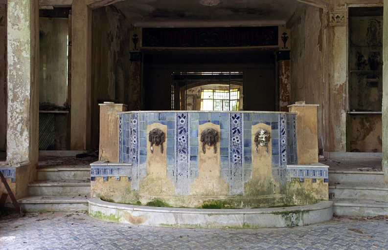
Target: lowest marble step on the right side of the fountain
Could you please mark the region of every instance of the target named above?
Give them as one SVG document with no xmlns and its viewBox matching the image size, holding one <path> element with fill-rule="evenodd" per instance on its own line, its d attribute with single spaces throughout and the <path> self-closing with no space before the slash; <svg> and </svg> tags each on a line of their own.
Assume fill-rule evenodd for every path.
<svg viewBox="0 0 388 250">
<path fill-rule="evenodd" d="M 388 215 L 388 203 L 365 199 L 332 199 L 333 212 L 346 216 Z"/>
</svg>

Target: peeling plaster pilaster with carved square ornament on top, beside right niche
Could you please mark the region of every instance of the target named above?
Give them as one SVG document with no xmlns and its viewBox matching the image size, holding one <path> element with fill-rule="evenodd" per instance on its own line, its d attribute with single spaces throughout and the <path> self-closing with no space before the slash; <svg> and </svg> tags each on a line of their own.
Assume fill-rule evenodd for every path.
<svg viewBox="0 0 388 250">
<path fill-rule="evenodd" d="M 324 97 L 324 150 L 346 151 L 347 19 L 346 9 L 329 13 L 329 83 Z"/>
</svg>

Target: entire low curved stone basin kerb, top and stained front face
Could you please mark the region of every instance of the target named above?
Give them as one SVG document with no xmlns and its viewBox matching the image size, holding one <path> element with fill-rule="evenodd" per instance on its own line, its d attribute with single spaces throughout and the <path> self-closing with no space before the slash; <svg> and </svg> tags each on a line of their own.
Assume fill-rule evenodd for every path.
<svg viewBox="0 0 388 250">
<path fill-rule="evenodd" d="M 254 209 L 156 208 L 110 203 L 100 198 L 90 198 L 88 202 L 89 215 L 93 218 L 152 227 L 284 228 L 323 223 L 333 218 L 331 201 Z"/>
</svg>

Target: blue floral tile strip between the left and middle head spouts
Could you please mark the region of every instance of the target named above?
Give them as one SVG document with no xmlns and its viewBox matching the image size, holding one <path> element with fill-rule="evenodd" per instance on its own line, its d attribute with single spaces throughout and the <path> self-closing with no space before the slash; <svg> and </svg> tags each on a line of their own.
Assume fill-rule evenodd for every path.
<svg viewBox="0 0 388 250">
<path fill-rule="evenodd" d="M 189 192 L 190 167 L 189 167 L 189 144 L 188 144 L 188 140 L 189 140 L 188 113 L 177 113 L 175 119 L 176 119 L 175 120 L 176 121 L 175 194 L 188 195 L 190 193 Z M 193 150 L 194 147 L 191 147 L 190 149 Z"/>
</svg>

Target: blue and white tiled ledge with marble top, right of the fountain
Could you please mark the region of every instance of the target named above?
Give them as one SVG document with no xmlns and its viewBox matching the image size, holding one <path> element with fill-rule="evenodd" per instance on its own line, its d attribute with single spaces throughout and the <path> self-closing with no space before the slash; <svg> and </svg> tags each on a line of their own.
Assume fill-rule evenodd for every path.
<svg viewBox="0 0 388 250">
<path fill-rule="evenodd" d="M 291 178 L 299 178 L 300 182 L 303 182 L 305 178 L 311 179 L 324 179 L 324 182 L 328 182 L 329 178 L 329 166 L 315 163 L 310 165 L 287 165 L 287 181 L 291 181 Z"/>
</svg>

